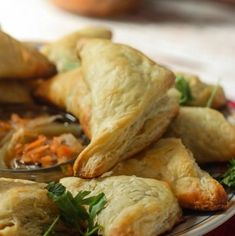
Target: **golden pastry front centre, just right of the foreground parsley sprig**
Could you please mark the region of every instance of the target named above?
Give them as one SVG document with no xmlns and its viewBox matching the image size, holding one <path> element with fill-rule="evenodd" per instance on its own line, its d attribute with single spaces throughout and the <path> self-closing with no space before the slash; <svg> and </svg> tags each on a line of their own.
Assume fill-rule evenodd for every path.
<svg viewBox="0 0 235 236">
<path fill-rule="evenodd" d="M 69 177 L 60 182 L 73 195 L 80 190 L 105 194 L 107 204 L 97 216 L 104 236 L 156 236 L 181 218 L 176 198 L 162 181 L 115 176 L 92 180 Z"/>
</svg>

